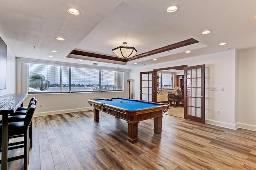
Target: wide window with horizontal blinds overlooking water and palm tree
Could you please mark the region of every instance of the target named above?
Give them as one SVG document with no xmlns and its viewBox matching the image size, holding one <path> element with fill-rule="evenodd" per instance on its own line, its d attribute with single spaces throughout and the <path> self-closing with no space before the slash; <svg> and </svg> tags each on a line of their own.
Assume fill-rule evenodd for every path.
<svg viewBox="0 0 256 170">
<path fill-rule="evenodd" d="M 123 90 L 123 72 L 29 64 L 28 93 Z"/>
</svg>

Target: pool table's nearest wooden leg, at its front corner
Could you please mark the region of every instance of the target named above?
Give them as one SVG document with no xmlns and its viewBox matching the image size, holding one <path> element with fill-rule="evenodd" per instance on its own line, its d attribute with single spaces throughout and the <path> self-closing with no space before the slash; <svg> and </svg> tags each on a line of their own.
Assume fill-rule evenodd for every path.
<svg viewBox="0 0 256 170">
<path fill-rule="evenodd" d="M 134 120 L 134 117 L 128 117 L 128 141 L 130 143 L 138 142 L 138 119 Z"/>
</svg>

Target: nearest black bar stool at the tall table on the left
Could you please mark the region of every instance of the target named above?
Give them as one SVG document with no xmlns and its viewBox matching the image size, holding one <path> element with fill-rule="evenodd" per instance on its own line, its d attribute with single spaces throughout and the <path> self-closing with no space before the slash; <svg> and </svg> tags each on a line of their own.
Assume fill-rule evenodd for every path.
<svg viewBox="0 0 256 170">
<path fill-rule="evenodd" d="M 8 158 L 8 162 L 24 158 L 24 170 L 28 169 L 28 150 L 29 150 L 29 125 L 32 123 L 32 117 L 36 105 L 32 104 L 27 109 L 24 121 L 8 123 L 8 150 L 24 148 L 24 154 Z M 9 143 L 9 139 L 23 137 L 23 141 Z M 0 141 L 2 141 L 2 124 L 0 124 Z M 21 138 L 22 139 L 22 138 Z M 2 144 L 1 144 L 2 151 Z M 2 163 L 2 160 L 0 160 Z"/>
</svg>

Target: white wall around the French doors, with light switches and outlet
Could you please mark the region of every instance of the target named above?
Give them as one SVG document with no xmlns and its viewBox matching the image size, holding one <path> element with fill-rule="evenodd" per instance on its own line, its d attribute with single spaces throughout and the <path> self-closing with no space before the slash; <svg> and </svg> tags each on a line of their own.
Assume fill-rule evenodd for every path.
<svg viewBox="0 0 256 170">
<path fill-rule="evenodd" d="M 206 123 L 235 129 L 235 59 L 235 50 L 201 55 L 187 59 L 135 68 L 130 71 L 129 79 L 134 79 L 135 81 L 135 99 L 139 100 L 140 72 L 185 64 L 188 64 L 188 66 L 206 64 Z M 212 86 L 217 86 L 218 90 L 210 91 L 210 87 Z M 220 91 L 221 86 L 224 87 L 224 91 Z M 217 110 L 220 110 L 220 115 L 217 114 Z"/>
</svg>

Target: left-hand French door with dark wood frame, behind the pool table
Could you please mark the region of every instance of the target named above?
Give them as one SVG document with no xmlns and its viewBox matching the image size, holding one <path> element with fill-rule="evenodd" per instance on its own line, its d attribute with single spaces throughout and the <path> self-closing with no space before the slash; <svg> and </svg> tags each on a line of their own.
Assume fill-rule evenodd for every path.
<svg viewBox="0 0 256 170">
<path fill-rule="evenodd" d="M 140 100 L 156 102 L 157 95 L 157 72 L 140 72 Z"/>
</svg>

